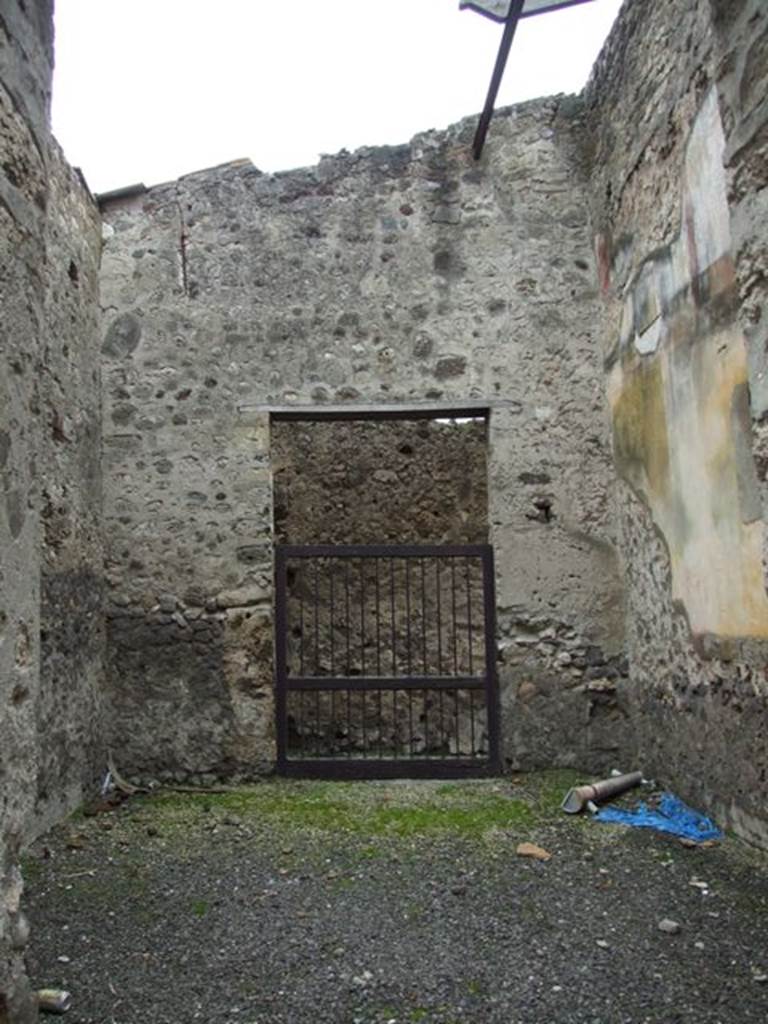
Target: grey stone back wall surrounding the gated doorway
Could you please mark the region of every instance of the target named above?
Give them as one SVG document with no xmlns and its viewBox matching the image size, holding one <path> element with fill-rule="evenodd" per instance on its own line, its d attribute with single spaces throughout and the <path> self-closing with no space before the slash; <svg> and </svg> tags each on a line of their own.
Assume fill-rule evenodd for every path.
<svg viewBox="0 0 768 1024">
<path fill-rule="evenodd" d="M 473 126 L 102 203 L 109 687 L 127 770 L 271 764 L 268 407 L 328 402 L 490 407 L 507 756 L 613 763 L 622 588 L 581 109 L 499 112 L 480 164 Z"/>
</svg>

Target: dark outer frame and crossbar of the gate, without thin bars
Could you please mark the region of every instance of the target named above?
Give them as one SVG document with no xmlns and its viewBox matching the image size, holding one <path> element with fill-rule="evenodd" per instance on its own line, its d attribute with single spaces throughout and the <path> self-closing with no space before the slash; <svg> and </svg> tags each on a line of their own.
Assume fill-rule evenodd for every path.
<svg viewBox="0 0 768 1024">
<path fill-rule="evenodd" d="M 483 672 L 481 676 L 291 676 L 288 666 L 288 563 L 296 559 L 425 559 L 473 558 L 482 566 L 483 603 Z M 423 565 L 423 562 L 422 562 Z M 469 569 L 467 569 L 469 572 Z M 378 568 L 377 568 L 378 573 Z M 498 775 L 501 772 L 501 710 L 496 673 L 496 597 L 494 586 L 494 551 L 490 545 L 275 545 L 275 715 L 278 740 L 278 771 L 283 775 L 322 778 L 462 778 Z M 378 580 L 378 577 L 377 577 Z M 378 586 L 378 584 L 377 584 Z M 469 584 L 468 584 L 469 586 Z M 408 589 L 408 585 L 407 585 Z M 438 583 L 439 589 L 439 583 Z M 333 598 L 332 598 L 333 600 Z M 365 599 L 364 599 L 365 600 Z M 378 598 L 377 598 L 378 600 Z M 439 596 L 438 596 L 439 603 Z M 316 610 L 315 610 L 316 614 Z M 377 615 L 379 609 L 377 605 Z M 439 612 L 438 612 L 439 614 Z M 333 611 L 332 611 L 333 616 Z M 347 628 L 349 623 L 347 622 Z M 333 617 L 331 632 L 333 633 Z M 454 623 L 456 629 L 456 621 Z M 440 625 L 438 620 L 438 636 Z M 365 643 L 365 634 L 364 641 Z M 409 641 L 410 642 L 410 641 Z M 303 639 L 302 639 L 303 643 Z M 439 643 L 439 640 L 438 640 Z M 471 646 L 470 625 L 470 646 Z M 409 655 L 410 656 L 410 655 Z M 471 665 L 471 655 L 470 655 Z M 365 669 L 365 664 L 364 664 Z M 426 669 L 426 666 L 425 666 Z M 487 756 L 465 757 L 457 751 L 453 757 L 384 758 L 289 757 L 288 697 L 292 691 L 333 690 L 349 692 L 378 690 L 454 690 L 458 708 L 458 691 L 482 691 L 487 715 Z M 302 698 L 303 699 L 303 698 Z M 381 698 L 380 698 L 381 700 Z M 381 710 L 380 710 L 381 715 Z M 458 711 L 457 711 L 458 716 Z M 365 705 L 364 705 L 365 721 Z M 362 726 L 365 730 L 365 724 Z M 413 738 L 412 738 L 413 742 Z M 473 740 L 474 745 L 474 740 Z M 413 746 L 411 748 L 413 755 Z"/>
</svg>

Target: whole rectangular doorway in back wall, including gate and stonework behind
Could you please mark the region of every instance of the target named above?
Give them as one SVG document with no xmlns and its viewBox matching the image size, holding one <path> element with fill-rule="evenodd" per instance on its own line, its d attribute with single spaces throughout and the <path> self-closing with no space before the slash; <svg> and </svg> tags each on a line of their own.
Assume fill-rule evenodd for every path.
<svg viewBox="0 0 768 1024">
<path fill-rule="evenodd" d="M 485 416 L 275 418 L 279 769 L 499 767 Z"/>
</svg>

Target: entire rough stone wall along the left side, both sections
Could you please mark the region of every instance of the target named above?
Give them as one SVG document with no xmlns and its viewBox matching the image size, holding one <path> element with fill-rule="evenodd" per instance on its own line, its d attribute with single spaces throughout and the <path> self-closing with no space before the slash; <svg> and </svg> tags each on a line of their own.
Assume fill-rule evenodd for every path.
<svg viewBox="0 0 768 1024">
<path fill-rule="evenodd" d="M 0 1021 L 36 1018 L 17 858 L 102 757 L 98 215 L 48 130 L 51 4 L 0 16 Z M 90 584 L 89 584 L 90 588 Z M 97 588 L 96 588 L 97 591 Z"/>
</svg>

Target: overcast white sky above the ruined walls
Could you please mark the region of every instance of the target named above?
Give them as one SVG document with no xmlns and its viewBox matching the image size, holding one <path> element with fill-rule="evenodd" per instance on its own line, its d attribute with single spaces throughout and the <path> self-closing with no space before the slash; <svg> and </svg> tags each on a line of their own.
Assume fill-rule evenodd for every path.
<svg viewBox="0 0 768 1024">
<path fill-rule="evenodd" d="M 621 0 L 522 20 L 497 105 L 578 92 Z M 93 191 L 407 142 L 482 106 L 502 27 L 458 0 L 56 0 L 53 130 Z M 492 126 L 493 132 L 493 126 Z"/>
</svg>

